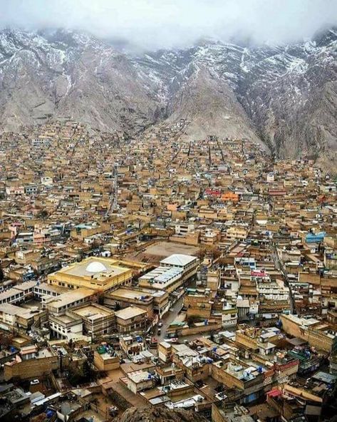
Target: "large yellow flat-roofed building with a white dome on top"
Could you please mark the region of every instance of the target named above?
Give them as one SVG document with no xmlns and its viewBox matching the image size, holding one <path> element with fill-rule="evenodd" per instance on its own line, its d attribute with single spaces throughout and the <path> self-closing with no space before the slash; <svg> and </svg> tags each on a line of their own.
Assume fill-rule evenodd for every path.
<svg viewBox="0 0 337 422">
<path fill-rule="evenodd" d="M 90 257 L 48 275 L 48 284 L 68 289 L 85 287 L 108 292 L 119 285 L 130 284 L 133 269 L 117 259 Z"/>
</svg>

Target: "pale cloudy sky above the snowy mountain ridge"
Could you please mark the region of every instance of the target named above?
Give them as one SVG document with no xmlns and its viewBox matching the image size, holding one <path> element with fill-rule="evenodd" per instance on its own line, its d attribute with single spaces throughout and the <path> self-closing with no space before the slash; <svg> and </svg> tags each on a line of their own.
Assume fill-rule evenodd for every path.
<svg viewBox="0 0 337 422">
<path fill-rule="evenodd" d="M 0 26 L 66 28 L 144 48 L 199 38 L 281 43 L 337 25 L 337 0 L 0 0 Z"/>
</svg>

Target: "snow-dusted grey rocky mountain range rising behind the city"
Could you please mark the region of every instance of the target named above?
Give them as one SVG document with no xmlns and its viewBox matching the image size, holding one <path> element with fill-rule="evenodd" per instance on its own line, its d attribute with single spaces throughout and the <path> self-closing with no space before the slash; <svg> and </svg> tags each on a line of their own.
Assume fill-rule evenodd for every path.
<svg viewBox="0 0 337 422">
<path fill-rule="evenodd" d="M 0 32 L 0 129 L 71 115 L 139 133 L 187 118 L 186 136 L 265 143 L 280 157 L 337 150 L 337 31 L 288 46 L 204 41 L 131 56 L 67 31 Z"/>
</svg>

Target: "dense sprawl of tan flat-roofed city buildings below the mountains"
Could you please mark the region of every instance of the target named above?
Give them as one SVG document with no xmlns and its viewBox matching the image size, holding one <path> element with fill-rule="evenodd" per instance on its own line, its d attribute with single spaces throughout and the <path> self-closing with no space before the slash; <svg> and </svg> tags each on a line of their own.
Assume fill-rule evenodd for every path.
<svg viewBox="0 0 337 422">
<path fill-rule="evenodd" d="M 336 414 L 336 180 L 185 123 L 1 135 L 1 421 Z"/>
</svg>

